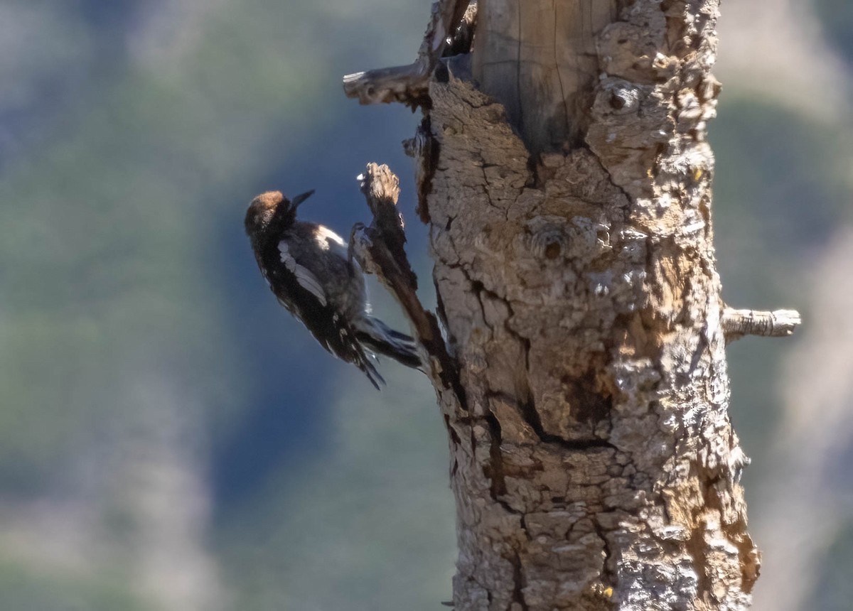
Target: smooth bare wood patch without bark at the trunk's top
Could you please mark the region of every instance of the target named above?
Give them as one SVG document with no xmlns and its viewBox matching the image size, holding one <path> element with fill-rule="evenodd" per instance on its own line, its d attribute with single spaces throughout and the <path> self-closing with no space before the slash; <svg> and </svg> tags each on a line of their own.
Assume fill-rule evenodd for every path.
<svg viewBox="0 0 853 611">
<path fill-rule="evenodd" d="M 532 153 L 575 143 L 598 78 L 595 34 L 616 0 L 480 0 L 473 78 L 500 101 Z"/>
</svg>

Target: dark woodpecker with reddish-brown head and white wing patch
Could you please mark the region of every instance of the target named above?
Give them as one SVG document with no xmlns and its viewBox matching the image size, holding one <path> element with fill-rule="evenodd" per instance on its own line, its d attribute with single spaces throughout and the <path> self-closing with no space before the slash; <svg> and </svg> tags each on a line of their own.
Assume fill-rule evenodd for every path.
<svg viewBox="0 0 853 611">
<path fill-rule="evenodd" d="M 258 268 L 278 303 L 339 359 L 357 366 L 380 388 L 385 380 L 371 358 L 383 354 L 421 368 L 415 340 L 370 315 L 364 276 L 337 233 L 296 220 L 313 190 L 287 199 L 270 191 L 252 199 L 246 233 Z"/>
</svg>

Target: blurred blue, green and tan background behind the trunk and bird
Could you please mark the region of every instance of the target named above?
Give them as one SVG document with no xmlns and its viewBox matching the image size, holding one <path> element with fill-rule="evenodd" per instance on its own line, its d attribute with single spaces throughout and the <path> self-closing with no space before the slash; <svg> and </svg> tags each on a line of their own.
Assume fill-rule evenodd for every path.
<svg viewBox="0 0 853 611">
<path fill-rule="evenodd" d="M 799 308 L 729 349 L 765 552 L 757 609 L 853 600 L 853 4 L 730 0 L 711 124 L 728 303 Z M 0 608 L 420 611 L 454 510 L 427 383 L 377 394 L 270 295 L 252 196 L 365 216 L 401 176 L 432 301 L 417 117 L 340 77 L 414 58 L 427 0 L 0 0 Z M 401 324 L 374 290 L 380 314 Z"/>
</svg>

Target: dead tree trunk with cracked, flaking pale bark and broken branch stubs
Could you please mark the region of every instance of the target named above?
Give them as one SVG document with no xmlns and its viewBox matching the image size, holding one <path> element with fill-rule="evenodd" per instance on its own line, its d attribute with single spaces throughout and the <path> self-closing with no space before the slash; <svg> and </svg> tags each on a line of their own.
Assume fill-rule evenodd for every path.
<svg viewBox="0 0 853 611">
<path fill-rule="evenodd" d="M 432 355 L 454 606 L 746 609 L 759 555 L 726 331 L 798 320 L 720 298 L 717 0 L 485 0 L 471 53 L 438 62 L 467 50 L 464 9 L 435 7 L 412 66 L 345 78 L 363 102 L 425 108 L 414 148 L 446 343 L 414 283 L 371 256 Z"/>
</svg>

